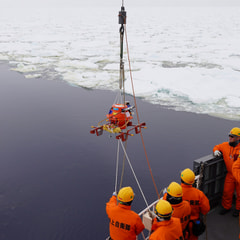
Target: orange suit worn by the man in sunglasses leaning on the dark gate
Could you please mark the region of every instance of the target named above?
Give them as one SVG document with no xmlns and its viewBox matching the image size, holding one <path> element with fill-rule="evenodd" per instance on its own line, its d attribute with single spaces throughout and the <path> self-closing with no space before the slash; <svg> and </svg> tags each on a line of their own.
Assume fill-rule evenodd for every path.
<svg viewBox="0 0 240 240">
<path fill-rule="evenodd" d="M 227 168 L 227 175 L 224 182 L 222 206 L 225 209 L 232 207 L 233 194 L 236 189 L 236 209 L 240 210 L 240 184 L 235 180 L 232 174 L 233 163 L 237 160 L 240 151 L 240 143 L 236 147 L 231 147 L 228 142 L 216 145 L 213 152 L 220 151 L 223 155 L 223 160 Z"/>
</svg>

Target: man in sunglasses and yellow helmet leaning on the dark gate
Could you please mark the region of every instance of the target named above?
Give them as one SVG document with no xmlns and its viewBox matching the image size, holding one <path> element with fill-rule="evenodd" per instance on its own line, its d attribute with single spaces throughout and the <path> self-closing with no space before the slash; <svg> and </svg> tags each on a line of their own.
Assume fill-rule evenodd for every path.
<svg viewBox="0 0 240 240">
<path fill-rule="evenodd" d="M 216 145 L 213 148 L 213 155 L 223 157 L 227 168 L 227 175 L 224 182 L 222 195 L 222 207 L 220 214 L 226 214 L 232 208 L 233 194 L 236 190 L 236 208 L 233 211 L 233 216 L 238 217 L 240 211 L 240 184 L 232 174 L 233 163 L 237 160 L 240 151 L 240 128 L 233 128 L 229 133 L 229 141 Z"/>
</svg>

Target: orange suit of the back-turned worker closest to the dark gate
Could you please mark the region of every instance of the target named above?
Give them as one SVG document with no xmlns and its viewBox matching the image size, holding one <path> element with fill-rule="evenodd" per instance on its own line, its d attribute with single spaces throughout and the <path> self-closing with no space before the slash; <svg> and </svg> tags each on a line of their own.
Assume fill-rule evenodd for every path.
<svg viewBox="0 0 240 240">
<path fill-rule="evenodd" d="M 183 196 L 182 199 L 190 203 L 191 216 L 190 220 L 197 220 L 200 218 L 200 213 L 206 215 L 210 211 L 209 200 L 206 195 L 192 185 L 181 183 Z M 192 234 L 191 224 L 189 224 L 190 236 L 189 240 L 198 239 L 197 236 Z"/>
</svg>

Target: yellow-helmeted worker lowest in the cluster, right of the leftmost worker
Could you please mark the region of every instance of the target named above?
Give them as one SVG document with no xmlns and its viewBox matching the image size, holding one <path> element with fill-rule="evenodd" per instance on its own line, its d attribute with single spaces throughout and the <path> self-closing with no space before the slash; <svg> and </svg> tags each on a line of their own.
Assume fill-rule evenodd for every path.
<svg viewBox="0 0 240 240">
<path fill-rule="evenodd" d="M 158 201 L 149 240 L 184 240 L 180 219 L 172 217 L 172 212 L 168 201 Z"/>
</svg>

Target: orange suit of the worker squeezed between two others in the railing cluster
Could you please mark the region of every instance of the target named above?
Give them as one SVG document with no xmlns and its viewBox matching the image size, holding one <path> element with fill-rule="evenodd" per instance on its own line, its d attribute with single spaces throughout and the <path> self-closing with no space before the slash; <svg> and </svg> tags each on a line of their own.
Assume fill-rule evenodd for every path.
<svg viewBox="0 0 240 240">
<path fill-rule="evenodd" d="M 167 200 L 167 193 L 163 196 L 164 200 Z M 178 204 L 171 204 L 173 208 L 172 217 L 179 218 L 182 231 L 184 231 L 188 225 L 191 216 L 191 206 L 188 201 L 182 201 Z"/>
</svg>

